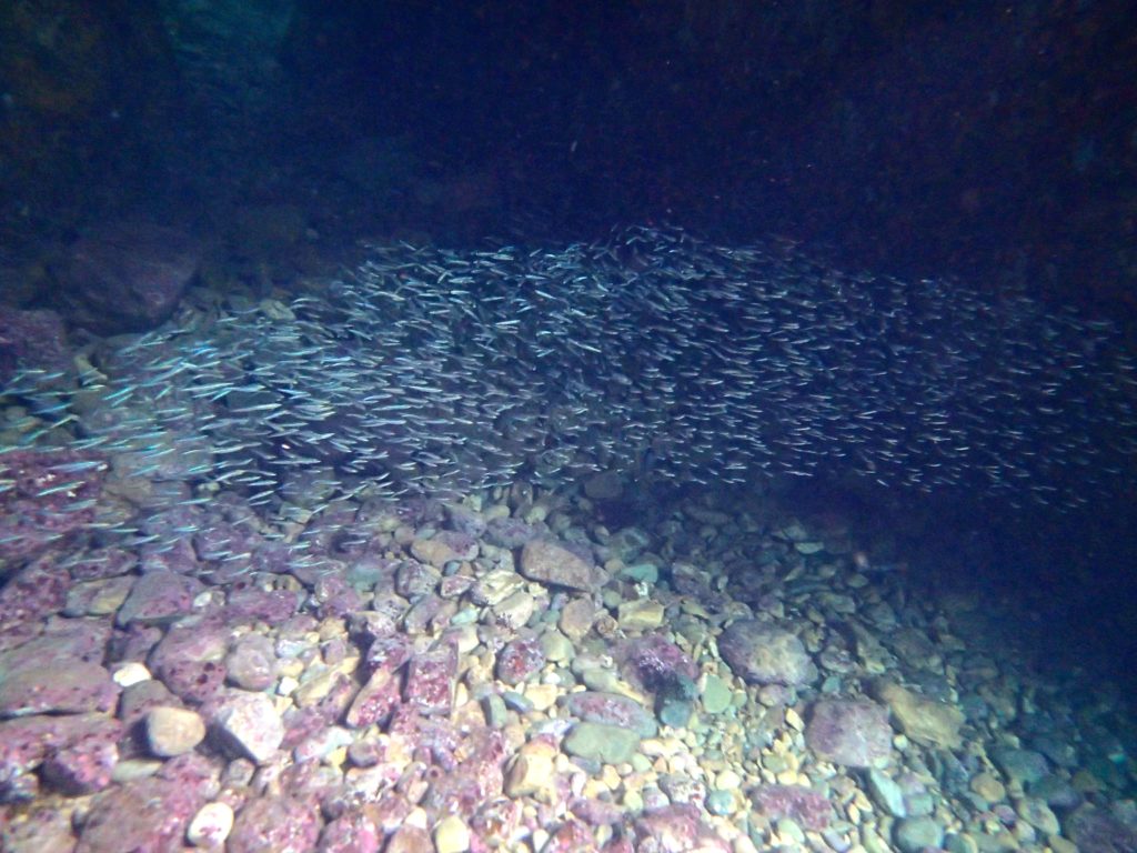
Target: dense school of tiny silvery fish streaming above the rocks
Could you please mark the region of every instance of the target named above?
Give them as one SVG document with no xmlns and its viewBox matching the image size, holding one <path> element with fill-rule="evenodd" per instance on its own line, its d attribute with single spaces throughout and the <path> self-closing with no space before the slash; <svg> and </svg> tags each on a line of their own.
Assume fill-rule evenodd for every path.
<svg viewBox="0 0 1137 853">
<path fill-rule="evenodd" d="M 366 258 L 288 301 L 216 296 L 103 347 L 70 386 L 22 372 L 3 398 L 45 425 L 20 444 L 67 434 L 134 475 L 275 510 L 607 470 L 1077 506 L 1131 474 L 1120 332 L 1023 293 L 646 227 Z"/>
</svg>

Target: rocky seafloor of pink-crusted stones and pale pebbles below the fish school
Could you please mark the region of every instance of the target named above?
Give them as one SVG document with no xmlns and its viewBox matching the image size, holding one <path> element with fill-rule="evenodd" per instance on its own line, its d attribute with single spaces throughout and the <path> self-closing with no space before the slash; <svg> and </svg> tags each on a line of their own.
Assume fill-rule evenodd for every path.
<svg viewBox="0 0 1137 853">
<path fill-rule="evenodd" d="M 3 851 L 1137 850 L 1122 698 L 836 513 L 262 481 L 291 457 L 197 431 L 192 345 L 22 322 L 55 367 L 2 400 Z M 148 346 L 119 405 L 100 348 Z"/>
</svg>

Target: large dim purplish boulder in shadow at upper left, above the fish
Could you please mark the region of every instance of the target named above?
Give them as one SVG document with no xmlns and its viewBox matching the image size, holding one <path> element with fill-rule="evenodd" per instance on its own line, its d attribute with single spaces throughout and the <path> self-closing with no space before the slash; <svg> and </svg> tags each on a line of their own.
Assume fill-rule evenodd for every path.
<svg viewBox="0 0 1137 853">
<path fill-rule="evenodd" d="M 97 334 L 153 329 L 169 318 L 198 263 L 198 247 L 181 231 L 100 225 L 70 249 L 63 276 L 70 320 Z"/>
</svg>

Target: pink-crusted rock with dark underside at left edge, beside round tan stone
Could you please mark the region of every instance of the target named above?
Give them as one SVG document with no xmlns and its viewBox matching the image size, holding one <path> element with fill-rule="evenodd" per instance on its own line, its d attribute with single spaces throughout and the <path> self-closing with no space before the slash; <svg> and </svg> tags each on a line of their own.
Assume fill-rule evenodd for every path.
<svg viewBox="0 0 1137 853">
<path fill-rule="evenodd" d="M 65 793 L 89 794 L 110 782 L 123 726 L 103 714 L 24 717 L 0 722 L 0 800 L 34 793 L 33 771 Z"/>
</svg>

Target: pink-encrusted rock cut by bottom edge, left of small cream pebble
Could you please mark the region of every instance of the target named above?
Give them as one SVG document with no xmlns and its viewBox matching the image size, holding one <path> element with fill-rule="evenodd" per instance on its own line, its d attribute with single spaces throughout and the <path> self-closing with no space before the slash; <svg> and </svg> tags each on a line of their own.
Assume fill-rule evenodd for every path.
<svg viewBox="0 0 1137 853">
<path fill-rule="evenodd" d="M 204 801 L 200 786 L 182 780 L 140 779 L 106 790 L 91 803 L 75 853 L 176 853 Z"/>
</svg>

